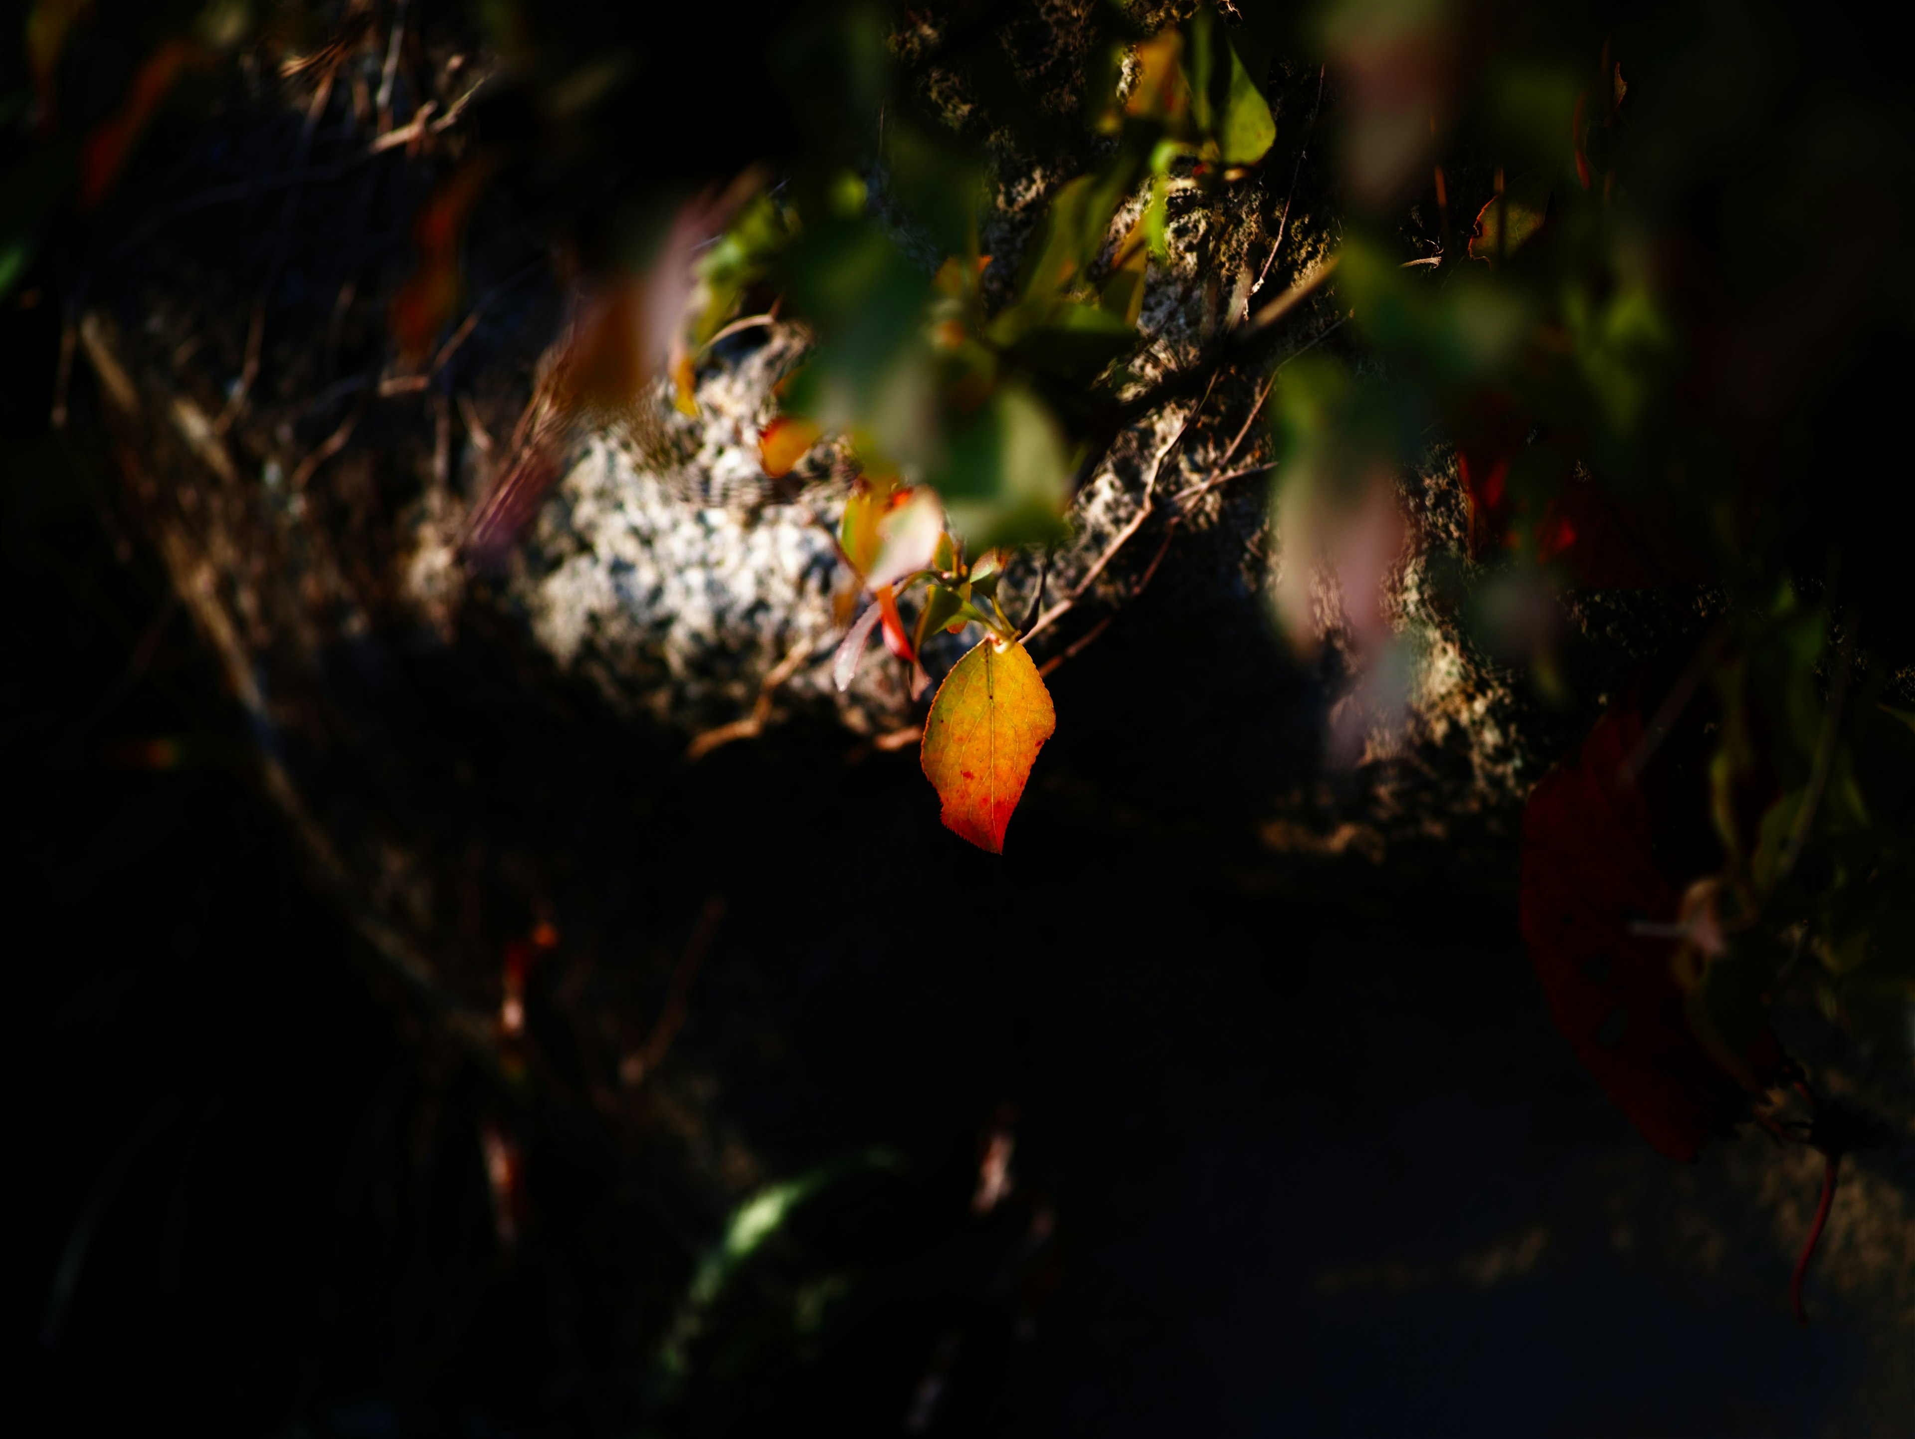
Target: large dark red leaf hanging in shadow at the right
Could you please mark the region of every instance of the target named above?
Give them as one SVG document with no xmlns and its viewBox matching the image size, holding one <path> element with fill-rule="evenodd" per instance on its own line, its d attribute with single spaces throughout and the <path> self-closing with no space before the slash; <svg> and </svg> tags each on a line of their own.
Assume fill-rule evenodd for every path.
<svg viewBox="0 0 1915 1439">
<path fill-rule="evenodd" d="M 1530 795 L 1522 939 L 1576 1058 L 1643 1138 L 1674 1159 L 1693 1159 L 1746 1111 L 1748 1094 L 1697 1039 L 1689 994 L 1672 970 L 1679 941 L 1668 931 L 1683 889 L 1720 864 L 1706 839 L 1702 713 L 1691 705 L 1633 780 L 1626 766 L 1643 742 L 1643 697 L 1632 686 L 1576 759 Z M 1741 1060 L 1748 1075 L 1769 1083 L 1781 1050 L 1762 1031 Z"/>
</svg>

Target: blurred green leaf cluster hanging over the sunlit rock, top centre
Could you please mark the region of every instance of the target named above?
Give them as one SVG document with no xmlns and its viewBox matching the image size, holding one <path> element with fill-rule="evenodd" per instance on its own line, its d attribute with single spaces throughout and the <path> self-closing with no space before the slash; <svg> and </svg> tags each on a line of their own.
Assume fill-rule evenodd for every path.
<svg viewBox="0 0 1915 1439">
<path fill-rule="evenodd" d="M 843 437 L 887 485 L 935 489 L 973 554 L 1061 538 L 1086 397 L 1141 339 L 1170 167 L 1189 161 L 1222 184 L 1275 136 L 1210 8 L 1138 46 L 1113 42 L 1092 84 L 1088 128 L 1111 142 L 1107 153 L 1057 188 L 1015 266 L 979 247 L 984 159 L 910 109 L 887 121 L 871 184 L 858 169 L 793 180 L 781 199 L 747 205 L 701 263 L 693 341 L 766 284 L 812 333 L 779 389 L 781 414 Z M 1139 186 L 1143 215 L 1099 264 Z M 919 268 L 906 236 L 944 251 L 936 274 Z M 996 307 L 992 264 L 1017 276 Z"/>
</svg>

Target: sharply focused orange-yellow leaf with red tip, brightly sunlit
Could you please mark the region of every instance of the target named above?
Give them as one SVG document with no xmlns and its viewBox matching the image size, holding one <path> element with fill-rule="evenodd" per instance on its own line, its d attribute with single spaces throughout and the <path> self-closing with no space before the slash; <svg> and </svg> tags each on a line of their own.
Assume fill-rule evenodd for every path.
<svg viewBox="0 0 1915 1439">
<path fill-rule="evenodd" d="M 992 855 L 1025 793 L 1038 749 L 1057 728 L 1051 694 L 1017 640 L 986 636 L 952 665 L 925 720 L 925 778 L 944 828 Z"/>
</svg>

